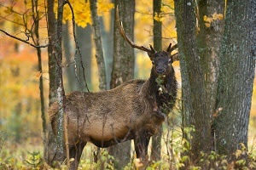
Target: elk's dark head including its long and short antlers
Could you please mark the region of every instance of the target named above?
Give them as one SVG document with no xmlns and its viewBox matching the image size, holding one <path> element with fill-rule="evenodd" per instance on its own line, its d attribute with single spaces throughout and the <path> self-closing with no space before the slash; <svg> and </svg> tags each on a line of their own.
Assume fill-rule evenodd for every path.
<svg viewBox="0 0 256 170">
<path fill-rule="evenodd" d="M 178 55 L 177 53 L 172 54 L 172 51 L 177 48 L 177 44 L 172 46 L 172 43 L 170 43 L 166 51 L 161 51 L 161 52 L 157 52 L 151 44 L 149 44 L 149 48 L 144 46 L 138 46 L 137 44 L 132 42 L 129 37 L 126 36 L 124 27 L 122 26 L 122 22 L 120 22 L 119 20 L 118 7 L 116 9 L 116 20 L 119 23 L 118 26 L 119 26 L 120 35 L 125 38 L 125 41 L 128 42 L 132 48 L 137 48 L 148 53 L 148 56 L 153 64 L 154 73 L 156 73 L 156 75 L 164 76 L 173 70 L 172 63 L 178 60 Z"/>
</svg>

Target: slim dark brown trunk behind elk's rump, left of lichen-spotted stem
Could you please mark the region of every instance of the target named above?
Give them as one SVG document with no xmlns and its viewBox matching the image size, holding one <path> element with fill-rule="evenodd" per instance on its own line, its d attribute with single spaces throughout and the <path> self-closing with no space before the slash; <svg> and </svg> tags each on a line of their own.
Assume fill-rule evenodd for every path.
<svg viewBox="0 0 256 170">
<path fill-rule="evenodd" d="M 48 19 L 48 67 L 49 67 L 49 106 L 55 102 L 55 58 L 53 45 L 55 44 L 56 20 L 54 13 L 54 0 L 47 0 L 47 19 Z M 44 152 L 44 160 L 53 165 L 56 153 L 55 135 L 52 131 L 50 123 L 47 123 L 47 145 L 48 148 Z"/>
</svg>

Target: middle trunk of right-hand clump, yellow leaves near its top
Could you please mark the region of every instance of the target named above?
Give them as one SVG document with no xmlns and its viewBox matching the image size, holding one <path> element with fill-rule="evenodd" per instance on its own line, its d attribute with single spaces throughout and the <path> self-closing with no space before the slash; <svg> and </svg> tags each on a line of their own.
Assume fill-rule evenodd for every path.
<svg viewBox="0 0 256 170">
<path fill-rule="evenodd" d="M 197 34 L 201 67 L 205 75 L 205 88 L 207 92 L 207 112 L 215 112 L 219 55 L 224 31 L 224 0 L 198 1 L 198 20 L 200 31 Z M 204 18 L 213 19 L 218 14 L 217 20 L 208 23 Z M 215 16 L 216 17 L 216 16 Z M 207 27 L 207 24 L 210 26 Z"/>
</svg>

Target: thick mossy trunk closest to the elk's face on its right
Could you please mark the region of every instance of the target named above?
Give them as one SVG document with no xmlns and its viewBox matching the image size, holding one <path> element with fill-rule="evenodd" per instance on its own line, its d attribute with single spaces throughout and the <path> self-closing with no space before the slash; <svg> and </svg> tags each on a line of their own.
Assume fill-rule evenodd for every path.
<svg viewBox="0 0 256 170">
<path fill-rule="evenodd" d="M 206 89 L 201 58 L 196 43 L 195 2 L 190 0 L 175 1 L 177 17 L 177 42 L 183 82 L 183 125 L 191 123 L 195 127 L 191 141 L 191 160 L 199 161 L 200 151 L 208 152 L 211 148 L 210 113 L 206 105 Z M 203 139 L 203 140 L 202 140 Z"/>
</svg>

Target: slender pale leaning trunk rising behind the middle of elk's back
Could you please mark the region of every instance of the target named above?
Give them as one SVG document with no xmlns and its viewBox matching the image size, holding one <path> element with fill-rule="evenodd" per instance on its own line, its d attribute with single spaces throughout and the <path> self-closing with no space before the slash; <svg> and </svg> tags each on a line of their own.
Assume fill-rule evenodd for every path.
<svg viewBox="0 0 256 170">
<path fill-rule="evenodd" d="M 102 49 L 102 37 L 100 31 L 100 24 L 99 18 L 97 14 L 97 6 L 96 0 L 90 0 L 90 14 L 92 20 L 92 27 L 94 33 L 94 41 L 96 44 L 96 61 L 98 66 L 98 74 L 99 74 L 99 82 L 100 82 L 100 90 L 107 89 L 107 81 L 106 81 L 106 69 L 105 69 L 105 62 L 103 56 L 103 49 Z"/>
</svg>

